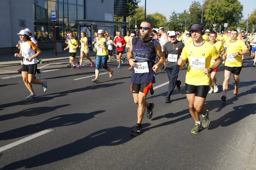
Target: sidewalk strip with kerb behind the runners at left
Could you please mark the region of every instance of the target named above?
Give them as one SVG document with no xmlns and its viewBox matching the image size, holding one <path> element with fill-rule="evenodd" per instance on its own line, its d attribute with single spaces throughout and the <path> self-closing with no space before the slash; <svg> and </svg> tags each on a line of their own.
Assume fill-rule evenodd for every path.
<svg viewBox="0 0 256 170">
<path fill-rule="evenodd" d="M 18 49 L 17 49 L 17 53 L 19 53 Z M 92 59 L 95 59 L 95 53 L 93 50 L 90 50 L 89 54 Z M 77 51 L 76 57 L 80 58 L 80 50 Z M 68 60 L 69 59 L 69 51 L 62 50 L 62 53 L 57 53 L 57 56 L 56 56 L 54 50 L 42 50 L 42 54 L 40 55 L 39 58 L 42 58 L 42 62 Z M 85 58 L 86 58 L 86 56 L 85 56 Z M 20 59 L 21 58 L 19 58 L 19 57 L 14 57 L 14 53 L 13 54 L 12 53 L 1 54 L 0 55 L 0 68 L 20 65 Z"/>
</svg>

